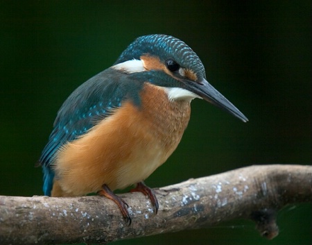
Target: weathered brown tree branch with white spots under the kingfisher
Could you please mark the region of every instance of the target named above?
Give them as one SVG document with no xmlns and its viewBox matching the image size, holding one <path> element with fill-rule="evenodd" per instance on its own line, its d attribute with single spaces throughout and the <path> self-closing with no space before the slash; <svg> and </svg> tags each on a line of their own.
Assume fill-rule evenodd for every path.
<svg viewBox="0 0 312 245">
<path fill-rule="evenodd" d="M 121 194 L 132 224 L 102 196 L 0 196 L 0 244 L 105 244 L 178 230 L 252 219 L 261 235 L 278 234 L 275 213 L 288 203 L 312 201 L 312 167 L 245 167 L 155 189 L 158 214 L 140 193 Z"/>
</svg>

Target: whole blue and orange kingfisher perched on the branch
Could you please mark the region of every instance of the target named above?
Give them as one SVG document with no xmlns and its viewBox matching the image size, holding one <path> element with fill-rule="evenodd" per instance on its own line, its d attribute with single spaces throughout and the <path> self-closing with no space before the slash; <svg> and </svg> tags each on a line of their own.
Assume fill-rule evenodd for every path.
<svg viewBox="0 0 312 245">
<path fill-rule="evenodd" d="M 112 67 L 80 85 L 64 101 L 39 163 L 46 196 L 97 193 L 114 201 L 131 223 L 128 204 L 114 190 L 135 185 L 155 213 L 144 180 L 175 151 L 193 99 L 248 119 L 206 80 L 200 58 L 170 35 L 144 35 Z"/>
</svg>

